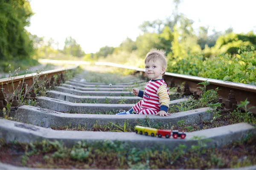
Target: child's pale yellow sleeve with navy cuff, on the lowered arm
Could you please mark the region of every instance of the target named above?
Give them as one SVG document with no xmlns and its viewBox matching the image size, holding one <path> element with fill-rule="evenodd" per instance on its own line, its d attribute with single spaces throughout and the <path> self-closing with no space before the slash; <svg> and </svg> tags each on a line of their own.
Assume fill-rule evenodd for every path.
<svg viewBox="0 0 256 170">
<path fill-rule="evenodd" d="M 166 85 L 161 85 L 157 90 L 157 95 L 160 102 L 160 111 L 166 111 L 168 113 L 168 108 L 170 105 L 170 98 L 167 92 Z"/>
</svg>

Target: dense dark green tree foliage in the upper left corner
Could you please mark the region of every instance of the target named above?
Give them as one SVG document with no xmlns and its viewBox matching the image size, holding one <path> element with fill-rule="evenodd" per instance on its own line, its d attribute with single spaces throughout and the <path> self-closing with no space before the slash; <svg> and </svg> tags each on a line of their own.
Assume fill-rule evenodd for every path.
<svg viewBox="0 0 256 170">
<path fill-rule="evenodd" d="M 27 0 L 0 0 L 0 59 L 29 59 L 33 53 L 29 19 L 33 15 Z"/>
</svg>

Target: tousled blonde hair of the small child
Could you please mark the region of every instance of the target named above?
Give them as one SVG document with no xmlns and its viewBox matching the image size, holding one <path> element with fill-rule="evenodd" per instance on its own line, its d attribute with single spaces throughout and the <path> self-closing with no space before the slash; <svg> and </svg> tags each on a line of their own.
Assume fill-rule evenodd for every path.
<svg viewBox="0 0 256 170">
<path fill-rule="evenodd" d="M 149 62 L 151 59 L 153 59 L 154 62 L 159 59 L 162 67 L 166 70 L 166 51 L 163 49 L 157 50 L 156 48 L 152 48 L 145 57 L 145 63 Z M 163 74 L 165 74 L 165 72 Z"/>
</svg>

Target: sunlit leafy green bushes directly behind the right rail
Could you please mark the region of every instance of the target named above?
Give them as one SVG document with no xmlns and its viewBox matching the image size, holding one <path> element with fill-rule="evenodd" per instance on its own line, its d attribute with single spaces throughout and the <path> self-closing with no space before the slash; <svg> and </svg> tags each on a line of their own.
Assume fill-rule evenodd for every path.
<svg viewBox="0 0 256 170">
<path fill-rule="evenodd" d="M 240 54 L 241 52 L 241 54 Z M 203 55 L 168 56 L 167 72 L 221 79 L 256 85 L 256 51 L 254 47 L 241 47 L 235 55 L 220 54 L 204 58 Z"/>
</svg>

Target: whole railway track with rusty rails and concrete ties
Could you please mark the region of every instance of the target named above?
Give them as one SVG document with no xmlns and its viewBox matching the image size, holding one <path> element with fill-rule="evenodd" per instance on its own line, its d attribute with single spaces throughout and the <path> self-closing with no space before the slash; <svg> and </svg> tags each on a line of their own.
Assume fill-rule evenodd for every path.
<svg viewBox="0 0 256 170">
<path fill-rule="evenodd" d="M 47 91 L 46 96 L 37 96 L 35 88 L 32 90 L 32 86 L 35 85 L 33 77 L 35 81 L 36 74 L 28 75 L 25 79 L 23 79 L 23 77 L 16 77 L 13 80 L 0 79 L 0 82 L 3 82 L 3 88 L 13 89 L 9 93 L 6 93 L 9 95 L 4 94 L 3 89 L 1 90 L 1 116 L 4 116 L 3 108 L 6 107 L 7 103 L 14 103 L 9 110 L 9 117 L 12 117 L 12 119 L 0 119 L 0 138 L 4 138 L 6 142 L 17 140 L 19 142 L 28 143 L 38 140 L 42 141 L 44 139 L 49 139 L 50 141 L 57 140 L 63 141 L 67 147 L 72 147 L 78 141 L 82 140 L 89 142 L 118 140 L 129 143 L 131 147 L 139 147 L 140 149 L 159 144 L 160 146 L 165 145 L 169 150 L 175 150 L 180 144 L 184 144 L 188 148 L 198 144 L 198 136 L 203 137 L 203 139 L 211 140 L 207 143 L 207 146 L 214 144 L 217 147 L 222 147 L 231 142 L 245 138 L 249 132 L 252 134 L 256 133 L 253 125 L 237 123 L 205 130 L 191 130 L 191 127 L 189 130 L 187 127 L 186 139 L 160 139 L 156 137 L 140 136 L 134 133 L 133 129 L 135 125 L 142 123 L 144 120 L 149 122 L 154 120 L 154 122 L 151 121 L 152 125 L 166 125 L 166 128 L 171 128 L 171 126 L 178 127 L 179 124 L 180 126 L 189 124 L 198 125 L 198 127 L 200 127 L 202 125 L 199 125 L 199 123 L 203 124 L 204 122 L 213 120 L 215 116 L 214 109 L 205 107 L 198 108 L 174 113 L 168 117 L 154 115 L 115 115 L 115 113 L 121 109 L 129 110 L 134 103 L 140 100 L 139 97 L 132 96 L 129 89 L 134 83 L 143 86 L 147 80 L 143 77 L 143 70 L 140 68 L 130 68 L 122 65 L 111 65 L 109 63 L 99 62 L 96 63 L 96 65 L 110 65 L 125 69 L 134 69 L 141 77 L 131 76 L 128 82 L 124 81 L 113 85 L 106 85 L 102 82 L 86 82 L 83 79 L 84 74 L 64 81 L 64 72 L 68 70 L 72 71 L 75 67 L 58 71 L 48 71 L 46 73 L 40 73 L 40 77 L 37 77 L 38 80 L 44 80 L 44 84 L 55 86 L 54 89 Z M 58 79 L 54 76 L 56 74 L 58 75 Z M 177 94 L 180 89 L 180 96 L 181 94 L 183 94 L 183 96 L 191 95 L 195 98 L 200 97 L 199 95 L 202 93 L 202 91 L 197 88 L 199 86 L 197 84 L 208 80 L 210 85 L 207 85 L 207 90 L 218 87 L 220 89 L 218 95 L 222 98 L 222 101 L 220 99 L 219 102 L 225 101 L 221 104 L 222 108 L 219 108 L 222 112 L 221 114 L 227 114 L 228 111 L 233 111 L 236 109 L 235 104 L 239 104 L 240 101 L 244 101 L 246 98 L 250 101 L 249 106 L 256 106 L 253 100 L 254 96 L 256 96 L 256 87 L 252 85 L 171 73 L 166 73 L 164 79 L 169 87 L 180 86 L 180 88 L 177 88 L 177 92 L 174 92 L 174 96 L 177 96 L 175 94 Z M 23 84 L 22 87 L 27 87 L 30 91 L 27 90 L 27 92 L 23 92 L 23 94 L 25 93 L 24 96 L 26 95 L 25 98 L 28 100 L 33 101 L 36 99 L 37 103 L 35 103 L 35 106 L 17 105 L 16 100 L 12 101 L 13 96 L 15 96 L 13 92 L 19 84 L 19 81 L 26 82 L 27 85 Z M 15 88 L 12 88 L 10 85 L 12 82 Z M 184 84 L 184 87 L 181 87 L 181 84 Z M 41 84 L 38 86 L 40 85 Z M 22 94 L 22 91 L 22 88 L 17 89 L 16 93 Z M 8 97 L 7 100 L 6 96 Z M 188 98 L 178 98 L 172 100 L 171 105 L 179 105 L 180 102 L 188 100 Z M 250 111 L 256 113 L 255 108 Z M 108 129 L 109 127 L 116 131 L 125 132 L 111 132 L 111 129 Z M 8 163 L 8 161 L 5 161 L 5 163 Z M 15 168 L 6 164 L 0 164 L 0 167 L 1 166 L 6 169 Z"/>
</svg>

